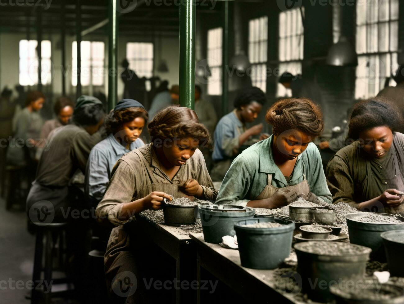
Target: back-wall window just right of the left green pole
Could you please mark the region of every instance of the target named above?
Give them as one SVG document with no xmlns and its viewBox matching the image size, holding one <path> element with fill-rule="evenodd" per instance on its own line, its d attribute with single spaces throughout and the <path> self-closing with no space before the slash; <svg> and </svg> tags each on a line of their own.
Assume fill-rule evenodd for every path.
<svg viewBox="0 0 404 304">
<path fill-rule="evenodd" d="M 129 69 L 135 71 L 139 77 L 153 76 L 153 43 L 128 42 L 126 44 L 126 59 Z"/>
</svg>

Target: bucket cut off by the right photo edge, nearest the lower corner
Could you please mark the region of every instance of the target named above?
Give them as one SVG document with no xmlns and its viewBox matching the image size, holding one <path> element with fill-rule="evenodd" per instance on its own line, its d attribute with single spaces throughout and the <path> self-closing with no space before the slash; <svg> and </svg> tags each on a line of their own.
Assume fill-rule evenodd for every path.
<svg viewBox="0 0 404 304">
<path fill-rule="evenodd" d="M 404 230 L 386 231 L 381 234 L 389 271 L 393 277 L 404 277 Z M 404 303 L 404 301 L 403 301 Z"/>
</svg>

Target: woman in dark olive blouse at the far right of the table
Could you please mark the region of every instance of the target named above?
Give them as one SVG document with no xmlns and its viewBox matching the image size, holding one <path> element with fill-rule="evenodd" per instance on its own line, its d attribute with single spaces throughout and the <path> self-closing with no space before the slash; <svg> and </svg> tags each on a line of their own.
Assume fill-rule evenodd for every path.
<svg viewBox="0 0 404 304">
<path fill-rule="evenodd" d="M 404 134 L 401 112 L 381 99 L 357 103 L 348 138 L 327 166 L 333 203 L 343 201 L 361 211 L 403 214 Z"/>
</svg>

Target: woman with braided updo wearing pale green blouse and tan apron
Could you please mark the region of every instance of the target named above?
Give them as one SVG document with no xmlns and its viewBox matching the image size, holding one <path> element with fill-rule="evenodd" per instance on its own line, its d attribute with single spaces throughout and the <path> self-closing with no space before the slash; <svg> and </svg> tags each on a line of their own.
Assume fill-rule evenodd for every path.
<svg viewBox="0 0 404 304">
<path fill-rule="evenodd" d="M 274 209 L 297 197 L 331 203 L 320 152 L 311 141 L 324 128 L 309 99 L 284 99 L 267 111 L 273 134 L 244 150 L 227 172 L 216 203 Z"/>
</svg>

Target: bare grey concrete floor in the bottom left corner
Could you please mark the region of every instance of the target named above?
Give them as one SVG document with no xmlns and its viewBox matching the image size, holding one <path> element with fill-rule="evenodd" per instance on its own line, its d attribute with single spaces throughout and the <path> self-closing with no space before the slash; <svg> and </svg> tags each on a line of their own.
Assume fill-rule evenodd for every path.
<svg viewBox="0 0 404 304">
<path fill-rule="evenodd" d="M 28 304 L 35 236 L 23 211 L 6 211 L 0 199 L 0 303 Z"/>
</svg>

